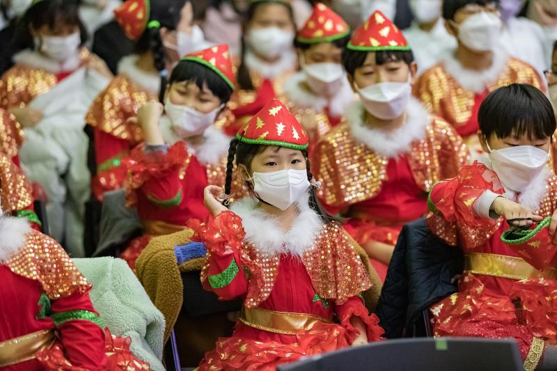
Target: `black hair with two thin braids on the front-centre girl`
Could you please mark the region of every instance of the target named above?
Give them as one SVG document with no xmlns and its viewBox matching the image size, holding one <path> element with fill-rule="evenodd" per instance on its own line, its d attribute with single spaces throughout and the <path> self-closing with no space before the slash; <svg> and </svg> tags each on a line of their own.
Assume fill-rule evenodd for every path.
<svg viewBox="0 0 557 371">
<path fill-rule="evenodd" d="M 244 165 L 246 169 L 249 169 L 253 157 L 265 150 L 265 148 L 267 148 L 267 145 L 244 143 L 238 139 L 233 139 L 232 141 L 230 141 L 230 147 L 228 148 L 228 159 L 226 162 L 226 180 L 224 182 L 225 194 L 230 195 L 230 191 L 232 189 L 232 175 L 234 167 L 236 166 L 236 168 L 238 168 L 238 165 Z M 308 181 L 311 182 L 313 180 L 313 174 L 310 170 L 308 151 L 303 150 L 301 151 L 301 154 L 304 155 L 304 157 L 306 158 L 306 172 L 308 174 Z M 250 188 L 250 191 L 253 194 L 253 189 Z M 226 204 L 226 200 L 223 202 L 223 204 Z M 321 205 L 319 198 L 317 198 L 316 189 L 315 187 L 313 187 L 313 184 L 310 187 L 309 207 L 311 207 L 311 209 L 320 216 L 324 223 L 336 221 L 336 219 L 331 216 L 331 214 L 329 214 L 327 210 L 325 210 L 324 207 Z"/>
</svg>

